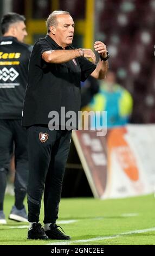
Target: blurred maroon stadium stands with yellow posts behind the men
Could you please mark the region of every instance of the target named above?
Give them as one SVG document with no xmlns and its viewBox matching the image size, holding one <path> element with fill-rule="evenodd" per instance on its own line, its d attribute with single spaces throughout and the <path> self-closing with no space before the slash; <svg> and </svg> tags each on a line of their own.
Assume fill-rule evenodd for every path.
<svg viewBox="0 0 155 256">
<path fill-rule="evenodd" d="M 46 34 L 45 20 L 53 10 L 67 10 L 75 21 L 75 47 L 93 48 L 102 40 L 111 54 L 109 66 L 134 99 L 132 123 L 155 121 L 154 0 L 1 0 L 8 11 L 27 18 L 27 42 Z"/>
</svg>

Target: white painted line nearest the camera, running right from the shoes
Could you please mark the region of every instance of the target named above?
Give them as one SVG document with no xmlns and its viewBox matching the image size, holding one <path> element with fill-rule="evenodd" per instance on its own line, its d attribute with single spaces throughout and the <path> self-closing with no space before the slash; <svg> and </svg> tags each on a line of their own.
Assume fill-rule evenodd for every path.
<svg viewBox="0 0 155 256">
<path fill-rule="evenodd" d="M 70 245 L 72 243 L 87 243 L 87 242 L 93 242 L 93 241 L 99 241 L 99 240 L 106 240 L 106 239 L 114 239 L 118 238 L 120 236 L 124 235 L 131 235 L 131 234 L 141 234 L 141 233 L 146 233 L 148 231 L 155 231 L 155 227 L 153 228 L 147 228 L 147 229 L 139 229 L 139 230 L 134 230 L 134 231 L 128 231 L 124 233 L 120 233 L 118 235 L 111 235 L 111 236 L 99 236 L 99 237 L 94 237 L 91 239 L 83 239 L 83 240 L 72 240 L 69 242 L 52 242 L 52 243 L 47 243 L 47 245 Z"/>
</svg>

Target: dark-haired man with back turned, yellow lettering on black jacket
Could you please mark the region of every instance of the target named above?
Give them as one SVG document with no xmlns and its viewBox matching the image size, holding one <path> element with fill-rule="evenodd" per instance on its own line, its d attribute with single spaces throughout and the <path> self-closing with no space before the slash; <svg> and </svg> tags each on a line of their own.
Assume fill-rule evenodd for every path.
<svg viewBox="0 0 155 256">
<path fill-rule="evenodd" d="M 15 205 L 9 218 L 27 221 L 23 200 L 27 193 L 27 134 L 21 126 L 22 106 L 27 85 L 31 46 L 24 44 L 27 35 L 25 18 L 8 13 L 1 20 L 0 38 L 0 224 L 7 223 L 3 211 L 7 173 L 15 154 Z"/>
</svg>

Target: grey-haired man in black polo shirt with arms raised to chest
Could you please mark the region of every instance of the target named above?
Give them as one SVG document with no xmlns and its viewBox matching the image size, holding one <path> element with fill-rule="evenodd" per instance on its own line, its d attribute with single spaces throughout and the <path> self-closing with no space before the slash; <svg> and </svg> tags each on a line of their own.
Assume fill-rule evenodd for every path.
<svg viewBox="0 0 155 256">
<path fill-rule="evenodd" d="M 72 130 L 77 126 L 75 120 L 69 125 L 68 117 L 70 112 L 77 117 L 80 111 L 80 81 L 90 75 L 105 78 L 108 54 L 105 44 L 96 41 L 94 49 L 101 59 L 95 65 L 91 49 L 70 46 L 74 21 L 67 11 L 51 13 L 47 30 L 48 35 L 37 40 L 31 53 L 23 105 L 29 157 L 28 239 L 68 240 L 70 236 L 56 225 Z M 54 123 L 49 119 L 53 113 Z M 43 190 L 44 229 L 39 223 Z"/>
</svg>

